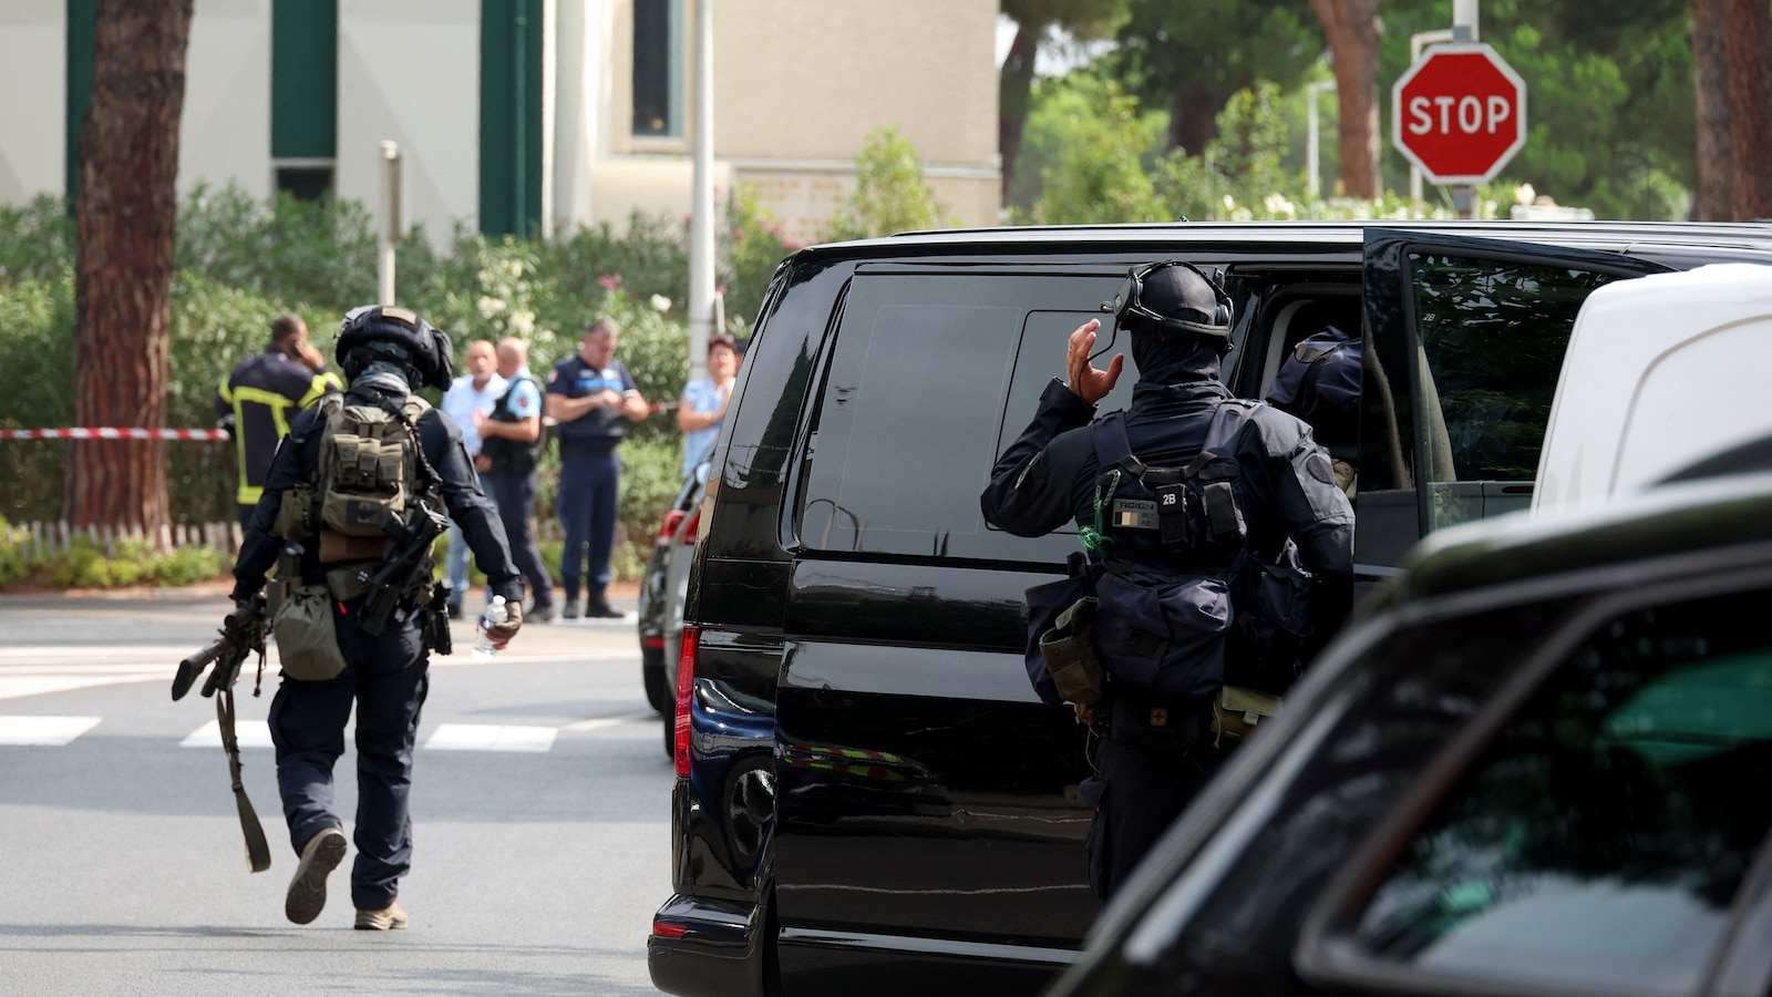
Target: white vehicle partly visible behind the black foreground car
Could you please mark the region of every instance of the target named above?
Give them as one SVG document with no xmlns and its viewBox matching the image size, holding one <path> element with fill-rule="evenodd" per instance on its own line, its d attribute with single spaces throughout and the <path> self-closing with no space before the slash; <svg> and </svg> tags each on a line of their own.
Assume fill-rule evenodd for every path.
<svg viewBox="0 0 1772 997">
<path fill-rule="evenodd" d="M 1616 280 L 1575 318 L 1531 507 L 1593 506 L 1692 468 L 1729 470 L 1761 459 L 1767 438 L 1772 266 Z"/>
</svg>

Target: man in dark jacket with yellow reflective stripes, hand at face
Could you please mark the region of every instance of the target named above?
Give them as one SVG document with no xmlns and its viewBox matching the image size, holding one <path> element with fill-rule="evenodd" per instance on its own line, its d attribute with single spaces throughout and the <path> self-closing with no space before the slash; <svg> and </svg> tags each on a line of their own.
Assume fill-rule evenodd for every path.
<svg viewBox="0 0 1772 997">
<path fill-rule="evenodd" d="M 326 392 L 344 389 L 338 374 L 308 342 L 301 316 L 278 316 L 271 323 L 271 344 L 262 353 L 241 360 L 216 390 L 216 413 L 230 419 L 234 452 L 239 459 L 241 525 L 264 491 L 276 442 L 289 433 L 292 412 L 312 406 Z"/>
</svg>

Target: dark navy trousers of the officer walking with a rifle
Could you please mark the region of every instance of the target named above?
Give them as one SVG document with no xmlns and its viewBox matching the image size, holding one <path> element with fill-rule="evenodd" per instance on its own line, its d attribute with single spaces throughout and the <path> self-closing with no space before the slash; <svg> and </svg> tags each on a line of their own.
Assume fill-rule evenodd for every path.
<svg viewBox="0 0 1772 997">
<path fill-rule="evenodd" d="M 356 607 L 333 623 L 346 669 L 331 681 L 285 678 L 271 701 L 271 743 L 276 745 L 276 788 L 296 853 L 328 827 L 344 830 L 333 811 L 333 765 L 344 754 L 344 727 L 356 701 L 356 864 L 351 903 L 381 910 L 399 894 L 413 866 L 413 743 L 418 710 L 429 690 L 418 619 L 388 619 L 381 637 L 356 624 Z"/>
</svg>

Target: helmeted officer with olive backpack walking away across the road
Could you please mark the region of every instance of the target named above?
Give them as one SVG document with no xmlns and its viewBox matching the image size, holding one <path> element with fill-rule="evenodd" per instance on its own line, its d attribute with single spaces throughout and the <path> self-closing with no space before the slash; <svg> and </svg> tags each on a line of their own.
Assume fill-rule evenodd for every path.
<svg viewBox="0 0 1772 997">
<path fill-rule="evenodd" d="M 346 318 L 337 355 L 351 387 L 289 428 L 246 525 L 234 600 L 252 600 L 278 564 L 271 594 L 284 603 L 273 607 L 284 679 L 269 727 L 284 816 L 301 857 L 285 914 L 296 924 L 319 917 L 326 876 L 346 853 L 333 765 L 354 701 L 351 901 L 356 928 L 388 930 L 408 922 L 395 896 L 411 867 L 408 793 L 427 651 L 448 653 L 438 598 L 447 593 L 432 589 L 429 559 L 443 513 L 461 523 L 487 587 L 509 601 L 510 619 L 491 632 L 494 640 L 521 626 L 523 584 L 461 429 L 411 394 L 448 387 L 448 337 L 406 309 L 370 305 Z"/>
</svg>

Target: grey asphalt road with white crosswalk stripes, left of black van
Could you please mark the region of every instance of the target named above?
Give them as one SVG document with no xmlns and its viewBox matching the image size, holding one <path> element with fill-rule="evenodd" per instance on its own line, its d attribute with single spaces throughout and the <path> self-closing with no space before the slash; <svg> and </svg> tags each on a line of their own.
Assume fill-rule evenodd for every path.
<svg viewBox="0 0 1772 997">
<path fill-rule="evenodd" d="M 262 697 L 250 663 L 236 688 L 269 871 L 248 871 L 213 701 L 168 695 L 225 610 L 0 598 L 0 993 L 654 993 L 672 768 L 631 621 L 528 626 L 494 662 L 457 624 L 418 729 L 411 928 L 354 931 L 349 855 L 314 924 L 284 919 L 275 655 Z M 354 805 L 347 749 L 347 834 Z"/>
</svg>

